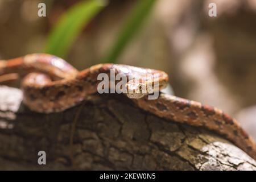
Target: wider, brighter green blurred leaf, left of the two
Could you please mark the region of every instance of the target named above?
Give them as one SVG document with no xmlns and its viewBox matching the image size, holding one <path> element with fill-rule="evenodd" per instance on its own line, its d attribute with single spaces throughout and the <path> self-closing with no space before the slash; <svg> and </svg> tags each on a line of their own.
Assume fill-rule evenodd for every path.
<svg viewBox="0 0 256 182">
<path fill-rule="evenodd" d="M 104 2 L 90 0 L 72 6 L 61 16 L 49 34 L 44 52 L 63 58 L 67 56 L 82 28 L 106 6 Z"/>
</svg>

